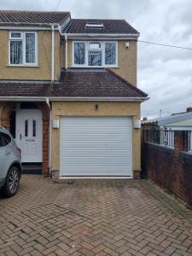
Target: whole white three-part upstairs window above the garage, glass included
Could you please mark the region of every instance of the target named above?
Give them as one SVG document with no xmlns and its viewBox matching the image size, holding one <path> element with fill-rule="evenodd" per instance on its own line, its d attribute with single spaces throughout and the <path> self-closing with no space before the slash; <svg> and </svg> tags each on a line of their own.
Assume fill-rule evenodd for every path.
<svg viewBox="0 0 192 256">
<path fill-rule="evenodd" d="M 74 41 L 73 67 L 118 67 L 118 43 Z"/>
</svg>

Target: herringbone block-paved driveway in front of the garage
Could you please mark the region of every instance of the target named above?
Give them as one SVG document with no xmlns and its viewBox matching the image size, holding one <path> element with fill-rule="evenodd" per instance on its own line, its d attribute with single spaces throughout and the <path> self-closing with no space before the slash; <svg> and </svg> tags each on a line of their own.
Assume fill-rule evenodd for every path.
<svg viewBox="0 0 192 256">
<path fill-rule="evenodd" d="M 23 175 L 0 198 L 0 255 L 192 255 L 190 217 L 146 180 Z"/>
</svg>

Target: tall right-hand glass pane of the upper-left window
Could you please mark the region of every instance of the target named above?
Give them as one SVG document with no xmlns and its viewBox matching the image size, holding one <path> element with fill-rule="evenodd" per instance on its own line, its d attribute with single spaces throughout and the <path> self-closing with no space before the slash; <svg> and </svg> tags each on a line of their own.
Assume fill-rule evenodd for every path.
<svg viewBox="0 0 192 256">
<path fill-rule="evenodd" d="M 26 63 L 35 62 L 35 34 L 26 33 Z"/>
</svg>

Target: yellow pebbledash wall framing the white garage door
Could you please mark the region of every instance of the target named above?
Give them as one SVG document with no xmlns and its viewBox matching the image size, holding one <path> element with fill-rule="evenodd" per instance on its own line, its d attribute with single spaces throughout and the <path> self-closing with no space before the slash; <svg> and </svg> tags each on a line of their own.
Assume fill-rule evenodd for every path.
<svg viewBox="0 0 192 256">
<path fill-rule="evenodd" d="M 96 110 L 96 103 L 99 109 Z M 52 102 L 52 119 L 65 116 L 132 116 L 140 119 L 139 102 Z M 133 175 L 140 177 L 141 171 L 141 131 L 133 129 Z M 60 130 L 52 130 L 52 166 L 59 171 Z"/>
</svg>

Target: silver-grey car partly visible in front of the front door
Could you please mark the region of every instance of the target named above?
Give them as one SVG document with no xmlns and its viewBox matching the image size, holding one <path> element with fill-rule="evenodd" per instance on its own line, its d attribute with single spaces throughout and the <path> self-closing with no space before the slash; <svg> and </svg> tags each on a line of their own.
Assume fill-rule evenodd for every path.
<svg viewBox="0 0 192 256">
<path fill-rule="evenodd" d="M 15 195 L 20 183 L 21 154 L 9 131 L 0 127 L 0 189 L 5 195 Z"/>
</svg>

